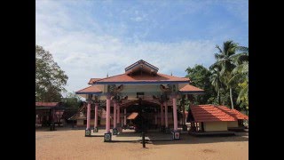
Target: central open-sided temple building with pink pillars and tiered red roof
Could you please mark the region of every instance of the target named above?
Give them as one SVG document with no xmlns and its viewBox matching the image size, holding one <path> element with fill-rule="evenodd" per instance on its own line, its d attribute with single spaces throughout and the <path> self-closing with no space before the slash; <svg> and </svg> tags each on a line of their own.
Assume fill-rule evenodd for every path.
<svg viewBox="0 0 284 160">
<path fill-rule="evenodd" d="M 125 68 L 121 75 L 91 78 L 90 86 L 75 92 L 88 102 L 85 136 L 90 136 L 91 130 L 98 132 L 100 118 L 100 124 L 106 126 L 105 141 L 109 141 L 112 135 L 122 132 L 127 116 L 137 112 L 140 121 L 136 124 L 140 130 L 158 126 L 162 131 L 172 133 L 173 140 L 178 140 L 177 100 L 183 94 L 202 94 L 203 90 L 190 85 L 187 77 L 165 75 L 158 70 L 145 60 L 138 60 Z M 93 126 L 91 105 L 94 105 Z M 106 115 L 102 114 L 103 110 Z"/>
</svg>

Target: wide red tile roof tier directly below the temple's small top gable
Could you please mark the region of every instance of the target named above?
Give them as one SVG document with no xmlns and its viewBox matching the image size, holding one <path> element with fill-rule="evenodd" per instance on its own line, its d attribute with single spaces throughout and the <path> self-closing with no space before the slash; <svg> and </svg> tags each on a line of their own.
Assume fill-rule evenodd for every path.
<svg viewBox="0 0 284 160">
<path fill-rule="evenodd" d="M 151 75 L 135 75 L 135 76 L 129 76 L 127 74 L 117 75 L 117 76 L 109 76 L 106 78 L 99 79 L 95 82 L 96 83 L 107 83 L 107 82 L 113 82 L 113 83 L 120 83 L 120 82 L 159 82 L 159 81 L 183 81 L 189 83 L 189 78 L 187 77 L 177 77 L 177 76 L 169 76 L 157 73 L 155 76 Z"/>
</svg>

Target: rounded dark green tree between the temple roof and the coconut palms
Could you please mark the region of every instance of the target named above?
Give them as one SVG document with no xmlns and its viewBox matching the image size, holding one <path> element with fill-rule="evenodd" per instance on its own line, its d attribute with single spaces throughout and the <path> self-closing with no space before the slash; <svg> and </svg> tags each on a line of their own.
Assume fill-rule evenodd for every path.
<svg viewBox="0 0 284 160">
<path fill-rule="evenodd" d="M 186 77 L 192 81 L 192 85 L 204 90 L 204 95 L 193 95 L 195 104 L 212 103 L 210 97 L 215 95 L 213 87 L 210 82 L 211 73 L 209 69 L 204 68 L 202 65 L 195 65 L 193 68 L 186 68 Z"/>
</svg>

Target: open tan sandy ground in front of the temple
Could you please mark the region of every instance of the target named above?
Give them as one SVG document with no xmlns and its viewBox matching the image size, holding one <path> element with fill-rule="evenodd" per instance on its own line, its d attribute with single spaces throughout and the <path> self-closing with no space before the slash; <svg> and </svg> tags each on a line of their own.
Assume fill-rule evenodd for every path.
<svg viewBox="0 0 284 160">
<path fill-rule="evenodd" d="M 233 137 L 193 137 L 139 142 L 103 142 L 84 137 L 83 130 L 36 131 L 36 159 L 248 159 L 248 132 Z M 102 134 L 105 131 L 100 131 Z M 161 136 L 164 136 L 162 134 Z M 128 140 L 127 137 L 123 137 Z"/>
</svg>

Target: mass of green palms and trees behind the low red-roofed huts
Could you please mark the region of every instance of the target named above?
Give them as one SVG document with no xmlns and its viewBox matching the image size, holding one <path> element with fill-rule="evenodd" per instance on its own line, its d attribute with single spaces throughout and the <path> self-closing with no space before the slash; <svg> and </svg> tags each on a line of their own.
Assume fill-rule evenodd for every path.
<svg viewBox="0 0 284 160">
<path fill-rule="evenodd" d="M 248 111 L 248 47 L 226 41 L 216 48 L 216 62 L 209 70 L 201 65 L 185 70 L 192 84 L 205 91 L 205 95 L 193 96 L 193 102 Z M 183 101 L 185 108 L 189 106 L 188 101 Z"/>
</svg>

